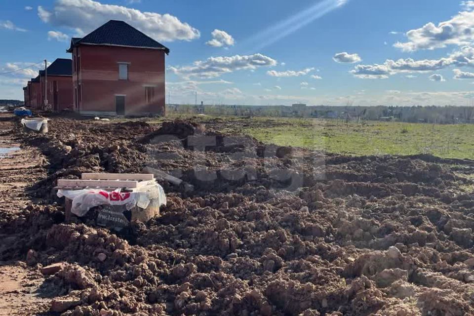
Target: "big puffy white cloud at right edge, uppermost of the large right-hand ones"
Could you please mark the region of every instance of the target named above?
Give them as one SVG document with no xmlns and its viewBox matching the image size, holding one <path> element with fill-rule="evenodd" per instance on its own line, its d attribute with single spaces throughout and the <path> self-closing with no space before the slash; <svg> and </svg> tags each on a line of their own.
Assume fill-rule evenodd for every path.
<svg viewBox="0 0 474 316">
<path fill-rule="evenodd" d="M 472 9 L 473 1 L 464 1 Z M 468 45 L 474 42 L 474 11 L 463 11 L 437 25 L 429 22 L 421 28 L 405 33 L 406 42 L 396 42 L 394 47 L 403 51 L 443 48 L 447 45 Z"/>
</svg>

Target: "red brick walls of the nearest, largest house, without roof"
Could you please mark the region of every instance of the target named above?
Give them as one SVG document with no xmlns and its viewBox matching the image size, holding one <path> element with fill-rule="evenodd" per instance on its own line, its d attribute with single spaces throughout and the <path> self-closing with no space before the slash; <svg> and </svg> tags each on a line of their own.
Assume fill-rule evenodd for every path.
<svg viewBox="0 0 474 316">
<path fill-rule="evenodd" d="M 73 49 L 75 110 L 90 115 L 116 115 L 116 95 L 125 95 L 125 115 L 165 113 L 163 50 L 80 45 Z M 128 63 L 128 79 L 118 79 L 119 63 Z M 147 102 L 145 87 L 153 87 Z"/>
</svg>

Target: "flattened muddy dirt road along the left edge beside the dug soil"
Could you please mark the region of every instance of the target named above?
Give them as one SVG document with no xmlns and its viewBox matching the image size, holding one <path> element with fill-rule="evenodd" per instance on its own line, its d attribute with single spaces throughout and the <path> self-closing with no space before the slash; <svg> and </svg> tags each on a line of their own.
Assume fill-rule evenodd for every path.
<svg viewBox="0 0 474 316">
<path fill-rule="evenodd" d="M 11 115 L 0 115 L 0 222 L 7 225 L 32 203 L 28 187 L 46 176 L 44 156 L 36 148 L 23 147 L 13 131 Z M 0 234 L 0 253 L 8 252 L 17 241 L 15 233 Z M 42 298 L 44 278 L 25 263 L 0 262 L 0 315 L 29 315 L 47 312 L 49 300 Z"/>
</svg>

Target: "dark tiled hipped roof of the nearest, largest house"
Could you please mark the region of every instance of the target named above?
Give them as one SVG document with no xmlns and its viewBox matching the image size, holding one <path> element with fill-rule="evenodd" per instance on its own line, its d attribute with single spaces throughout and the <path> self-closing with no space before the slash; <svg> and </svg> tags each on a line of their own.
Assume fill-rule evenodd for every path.
<svg viewBox="0 0 474 316">
<path fill-rule="evenodd" d="M 163 49 L 166 54 L 169 53 L 169 49 L 158 43 L 158 41 L 143 34 L 131 25 L 116 20 L 110 20 L 82 39 L 72 38 L 71 47 L 68 49 L 68 52 L 72 52 L 73 47 L 80 44 L 155 48 Z"/>
</svg>

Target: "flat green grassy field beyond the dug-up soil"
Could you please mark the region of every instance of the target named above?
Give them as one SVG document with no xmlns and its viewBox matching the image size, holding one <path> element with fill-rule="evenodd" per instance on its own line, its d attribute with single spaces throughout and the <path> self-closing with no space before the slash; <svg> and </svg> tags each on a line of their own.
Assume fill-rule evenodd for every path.
<svg viewBox="0 0 474 316">
<path fill-rule="evenodd" d="M 474 124 L 427 124 L 361 121 L 346 123 L 318 118 L 243 118 L 176 115 L 221 132 L 251 135 L 281 146 L 326 150 L 346 155 L 433 154 L 441 158 L 474 159 Z M 163 119 L 152 119 L 161 122 Z"/>
</svg>

